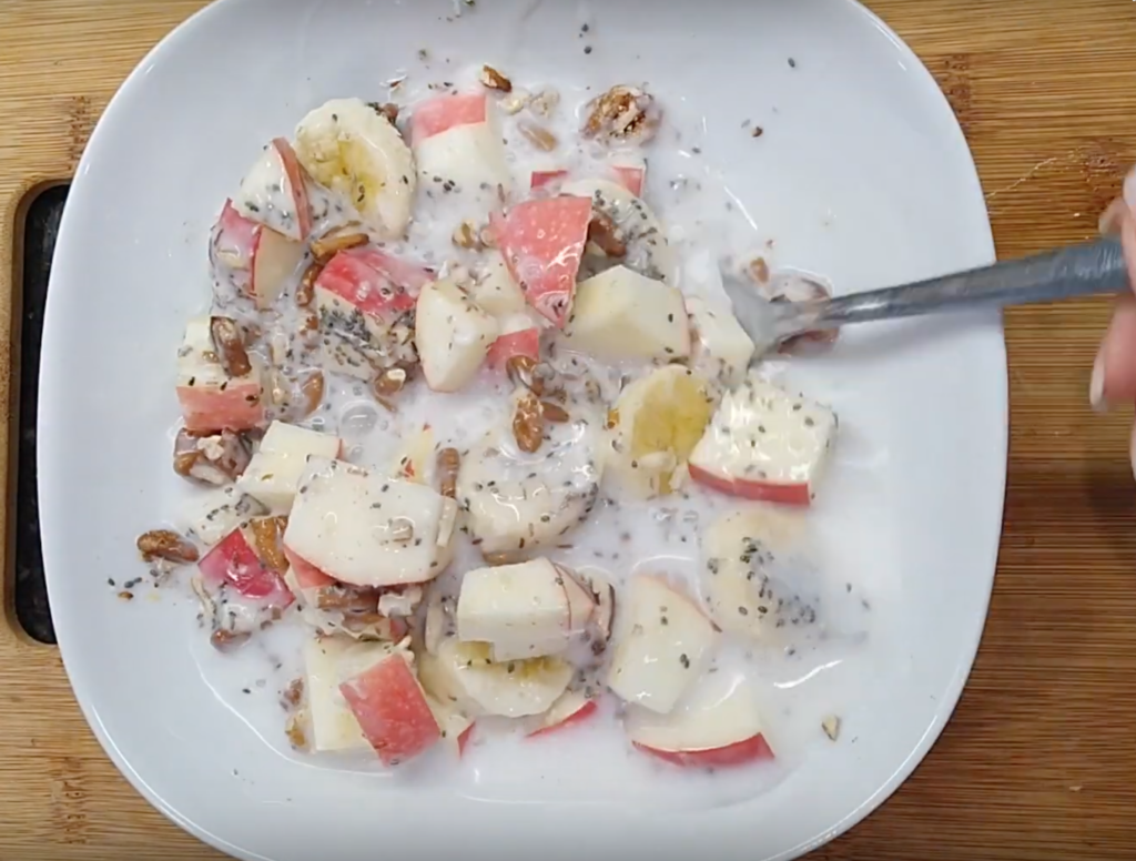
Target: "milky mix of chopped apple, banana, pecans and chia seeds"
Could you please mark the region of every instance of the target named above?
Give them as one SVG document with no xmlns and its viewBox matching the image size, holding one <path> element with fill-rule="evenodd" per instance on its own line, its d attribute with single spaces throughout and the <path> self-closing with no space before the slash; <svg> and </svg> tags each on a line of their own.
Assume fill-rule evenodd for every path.
<svg viewBox="0 0 1136 861">
<path fill-rule="evenodd" d="M 605 722 L 666 768 L 772 761 L 754 650 L 829 633 L 796 560 L 837 417 L 692 278 L 661 99 L 574 119 L 467 77 L 317 106 L 234 183 L 172 348 L 191 499 L 139 550 L 226 660 L 301 632 L 279 733 L 309 755 Z"/>
</svg>

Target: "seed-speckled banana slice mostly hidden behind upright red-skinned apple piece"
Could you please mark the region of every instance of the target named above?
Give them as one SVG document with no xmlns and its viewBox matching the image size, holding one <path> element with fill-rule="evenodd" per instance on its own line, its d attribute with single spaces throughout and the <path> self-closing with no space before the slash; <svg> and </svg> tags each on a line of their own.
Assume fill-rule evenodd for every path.
<svg viewBox="0 0 1136 861">
<path fill-rule="evenodd" d="M 651 208 L 627 189 L 609 179 L 577 179 L 565 183 L 561 194 L 591 198 L 594 209 L 603 212 L 619 228 L 626 245 L 623 258 L 612 258 L 590 243 L 579 268 L 579 279 L 598 275 L 616 264 L 623 264 L 641 275 L 677 285 L 678 260 L 667 242 L 662 223 Z"/>
</svg>

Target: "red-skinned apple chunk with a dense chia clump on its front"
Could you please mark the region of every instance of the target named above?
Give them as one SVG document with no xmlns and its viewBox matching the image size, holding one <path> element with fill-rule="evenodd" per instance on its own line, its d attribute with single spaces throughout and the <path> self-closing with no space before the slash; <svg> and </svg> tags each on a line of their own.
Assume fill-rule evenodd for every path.
<svg viewBox="0 0 1136 861">
<path fill-rule="evenodd" d="M 370 245 L 339 252 L 316 279 L 325 367 L 369 379 L 377 368 L 418 361 L 407 319 L 431 271 Z"/>
</svg>

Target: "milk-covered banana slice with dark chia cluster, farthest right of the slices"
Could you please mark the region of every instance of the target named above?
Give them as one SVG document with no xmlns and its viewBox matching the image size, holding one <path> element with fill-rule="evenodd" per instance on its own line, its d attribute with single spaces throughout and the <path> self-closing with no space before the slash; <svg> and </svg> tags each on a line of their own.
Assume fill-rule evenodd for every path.
<svg viewBox="0 0 1136 861">
<path fill-rule="evenodd" d="M 700 588 L 722 630 L 776 644 L 817 624 L 816 603 L 793 583 L 803 529 L 799 516 L 753 505 L 703 533 Z"/>
</svg>

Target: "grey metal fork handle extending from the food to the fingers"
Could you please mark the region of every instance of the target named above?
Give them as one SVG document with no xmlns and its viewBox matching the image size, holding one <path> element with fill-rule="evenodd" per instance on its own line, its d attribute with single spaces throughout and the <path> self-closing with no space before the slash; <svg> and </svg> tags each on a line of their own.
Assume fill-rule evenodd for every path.
<svg viewBox="0 0 1136 861">
<path fill-rule="evenodd" d="M 796 304 L 778 336 L 849 323 L 899 319 L 942 309 L 1004 307 L 1129 290 L 1120 243 L 1112 237 L 938 278 Z M 788 303 L 780 308 L 788 310 Z"/>
</svg>

